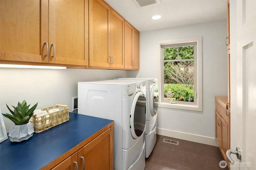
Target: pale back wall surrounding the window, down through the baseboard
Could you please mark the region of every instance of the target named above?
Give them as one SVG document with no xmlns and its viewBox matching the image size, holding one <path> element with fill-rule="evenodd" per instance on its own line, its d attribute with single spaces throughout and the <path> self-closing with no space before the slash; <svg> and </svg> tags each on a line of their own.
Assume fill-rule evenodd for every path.
<svg viewBox="0 0 256 170">
<path fill-rule="evenodd" d="M 159 77 L 158 41 L 202 36 L 203 111 L 160 107 L 157 133 L 179 139 L 216 145 L 215 96 L 227 96 L 226 21 L 140 32 L 140 70 L 137 77 Z M 133 76 L 129 73 L 129 76 Z"/>
</svg>

